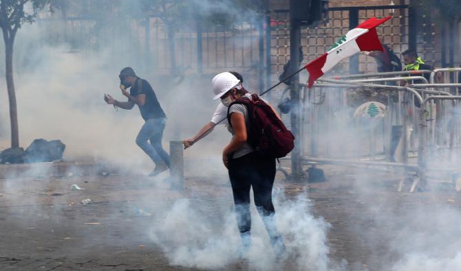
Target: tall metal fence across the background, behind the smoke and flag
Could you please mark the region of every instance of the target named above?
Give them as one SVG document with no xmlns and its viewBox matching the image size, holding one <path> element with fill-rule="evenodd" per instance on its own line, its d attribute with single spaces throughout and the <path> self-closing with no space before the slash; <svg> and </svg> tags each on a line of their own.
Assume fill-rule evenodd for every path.
<svg viewBox="0 0 461 271">
<path fill-rule="evenodd" d="M 371 16 L 393 15 L 378 27 L 383 43 L 397 54 L 411 47 L 429 64 L 440 66 L 440 34 L 429 16 L 412 23 L 414 12 L 408 5 L 330 8 L 328 21 L 301 31 L 303 64 L 314 60 L 348 30 Z M 278 82 L 283 66 L 290 59 L 290 14 L 271 10 L 230 26 L 196 22 L 191 25 L 178 17 L 178 27 L 169 38 L 167 25 L 158 17 L 142 20 L 97 18 L 40 19 L 43 43 L 69 45 L 72 51 L 109 49 L 122 58 L 127 52 L 145 70 L 159 74 L 200 74 L 237 70 L 259 77 L 259 88 Z M 185 19 L 184 19 L 185 20 Z M 422 21 L 421 21 L 422 20 Z M 416 33 L 418 30 L 418 34 Z M 172 58 L 174 60 L 172 61 Z M 173 65 L 173 67 L 172 67 Z M 376 71 L 375 60 L 363 54 L 344 60 L 331 73 Z"/>
</svg>

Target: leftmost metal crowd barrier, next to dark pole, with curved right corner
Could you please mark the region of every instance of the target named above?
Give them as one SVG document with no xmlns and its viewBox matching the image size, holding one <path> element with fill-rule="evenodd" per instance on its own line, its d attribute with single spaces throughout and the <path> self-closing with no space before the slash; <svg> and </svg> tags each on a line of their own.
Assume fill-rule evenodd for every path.
<svg viewBox="0 0 461 271">
<path fill-rule="evenodd" d="M 347 106 L 345 104 L 345 91 L 347 89 L 354 89 L 354 88 L 371 88 L 375 89 L 378 91 L 403 91 L 407 93 L 412 93 L 413 95 L 420 95 L 411 89 L 405 88 L 403 86 L 385 86 L 385 85 L 378 85 L 378 84 L 364 84 L 364 83 L 354 83 L 354 82 L 347 82 L 347 81 L 337 81 L 337 80 L 322 80 L 323 82 L 330 82 L 328 84 L 325 83 L 316 83 L 314 84 L 314 88 L 311 89 L 307 94 L 304 94 L 304 101 L 309 101 L 310 104 L 307 106 L 305 105 L 305 108 L 308 111 L 308 120 L 310 124 L 310 143 L 309 143 L 309 152 L 310 156 L 316 157 L 320 154 L 319 148 L 322 149 L 323 151 L 323 156 L 328 157 L 328 158 L 358 158 L 354 157 L 354 154 L 356 154 L 356 149 L 353 150 L 346 150 L 345 146 L 347 143 L 345 141 L 350 141 L 348 137 L 351 137 L 350 134 L 347 134 L 347 132 L 351 132 L 351 129 L 348 129 L 345 127 L 347 123 L 354 123 L 356 121 L 352 121 L 351 119 L 346 119 L 345 117 L 347 115 L 350 115 L 350 112 L 346 112 Z M 301 84 L 301 86 L 306 86 L 305 84 Z M 323 89 L 326 89 L 329 95 L 327 95 L 326 91 L 323 91 Z M 319 91 L 320 90 L 320 91 Z M 334 91 L 334 92 L 332 92 Z M 306 93 L 304 91 L 304 93 Z M 334 93 L 332 95 L 331 93 Z M 336 104 L 332 104 L 332 102 L 336 102 Z M 338 104 L 339 103 L 339 104 Z M 408 107 L 409 103 L 407 104 L 400 104 L 402 107 Z M 321 108 L 323 107 L 323 108 Z M 336 109 L 336 110 L 332 110 Z M 350 111 L 350 110 L 349 110 Z M 400 123 L 403 123 L 403 127 L 407 126 L 407 121 L 409 120 L 407 117 L 407 114 L 404 114 L 405 112 L 408 112 L 408 110 L 404 110 L 403 108 L 400 109 L 401 114 L 400 116 L 394 116 L 397 119 L 397 121 L 400 121 Z M 401 119 L 400 119 L 401 118 Z M 373 120 L 374 121 L 374 120 Z M 368 142 L 367 142 L 367 150 L 365 152 L 361 153 L 361 159 L 367 158 L 369 160 L 383 160 L 383 158 L 378 158 L 376 157 L 376 154 L 385 154 L 385 160 L 388 162 L 391 162 L 391 125 L 392 119 L 387 115 L 387 117 L 382 118 L 382 121 L 378 120 L 376 123 L 374 123 L 374 127 L 369 127 L 370 129 L 367 130 L 368 132 Z M 331 123 L 334 124 L 336 129 L 332 130 L 332 125 Z M 327 126 L 325 128 L 325 126 Z M 325 139 L 325 143 L 322 145 L 321 141 L 319 141 L 319 132 L 322 132 L 322 130 L 325 130 L 322 135 L 322 139 Z M 403 132 L 405 134 L 405 132 Z M 334 135 L 337 135 L 335 138 Z M 380 139 L 378 139 L 378 136 L 381 136 Z M 352 137 L 356 137 L 356 135 L 352 135 Z M 378 139 L 378 140 L 376 140 Z M 378 144 L 376 142 L 378 141 Z M 335 144 L 334 143 L 339 143 L 336 144 L 336 157 L 332 155 L 331 149 L 334 148 Z M 361 147 L 363 148 L 363 141 L 361 141 Z M 376 153 L 376 145 L 380 145 L 378 148 L 380 148 L 380 152 Z M 405 150 L 403 150 L 403 154 L 407 153 L 407 147 L 404 146 Z M 405 163 L 407 162 L 407 155 L 402 155 L 401 160 L 404 161 Z M 318 159 L 317 161 L 318 162 Z M 331 162 L 331 161 L 329 161 Z M 382 164 L 381 164 L 382 165 Z M 393 163 L 392 165 L 395 165 Z"/>
</svg>

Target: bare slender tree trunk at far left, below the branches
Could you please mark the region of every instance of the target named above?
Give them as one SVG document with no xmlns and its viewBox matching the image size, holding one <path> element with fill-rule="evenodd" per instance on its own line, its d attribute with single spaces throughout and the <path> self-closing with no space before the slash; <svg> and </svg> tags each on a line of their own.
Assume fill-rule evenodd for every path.
<svg viewBox="0 0 461 271">
<path fill-rule="evenodd" d="M 18 113 L 16 106 L 16 93 L 13 82 L 13 44 L 14 37 L 5 40 L 6 86 L 10 102 L 11 147 L 19 147 Z"/>
</svg>

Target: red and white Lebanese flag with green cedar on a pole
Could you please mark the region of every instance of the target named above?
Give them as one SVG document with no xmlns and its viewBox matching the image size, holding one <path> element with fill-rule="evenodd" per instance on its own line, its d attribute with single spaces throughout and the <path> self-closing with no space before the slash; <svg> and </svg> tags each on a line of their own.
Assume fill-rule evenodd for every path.
<svg viewBox="0 0 461 271">
<path fill-rule="evenodd" d="M 387 16 L 383 19 L 372 17 L 357 25 L 353 30 L 341 36 L 339 40 L 330 47 L 330 50 L 316 60 L 312 60 L 305 69 L 309 71 L 309 88 L 317 78 L 320 78 L 327 71 L 330 71 L 344 58 L 357 54 L 359 51 L 384 51 L 376 33 L 376 27 L 391 19 Z"/>
</svg>

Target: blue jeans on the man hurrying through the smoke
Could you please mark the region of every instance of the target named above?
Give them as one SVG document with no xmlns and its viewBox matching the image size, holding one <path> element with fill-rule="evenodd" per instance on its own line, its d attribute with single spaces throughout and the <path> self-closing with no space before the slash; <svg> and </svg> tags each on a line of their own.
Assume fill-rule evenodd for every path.
<svg viewBox="0 0 461 271">
<path fill-rule="evenodd" d="M 166 118 L 147 119 L 136 137 L 136 144 L 152 159 L 153 163 L 166 163 L 170 166 L 170 156 L 162 148 L 163 130 Z M 150 141 L 150 144 L 147 141 Z"/>
</svg>

